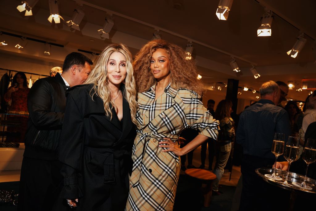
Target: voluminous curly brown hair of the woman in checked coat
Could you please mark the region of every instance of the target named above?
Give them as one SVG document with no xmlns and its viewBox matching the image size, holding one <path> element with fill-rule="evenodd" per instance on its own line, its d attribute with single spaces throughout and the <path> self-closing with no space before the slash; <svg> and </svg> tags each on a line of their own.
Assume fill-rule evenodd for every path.
<svg viewBox="0 0 316 211">
<path fill-rule="evenodd" d="M 150 71 L 150 60 L 158 48 L 165 49 L 169 56 L 171 87 L 190 89 L 202 95 L 204 85 L 197 79 L 197 67 L 194 60 L 186 60 L 185 51 L 181 47 L 165 40 L 150 41 L 136 54 L 133 67 L 137 92 L 145 92 L 157 83 Z"/>
</svg>

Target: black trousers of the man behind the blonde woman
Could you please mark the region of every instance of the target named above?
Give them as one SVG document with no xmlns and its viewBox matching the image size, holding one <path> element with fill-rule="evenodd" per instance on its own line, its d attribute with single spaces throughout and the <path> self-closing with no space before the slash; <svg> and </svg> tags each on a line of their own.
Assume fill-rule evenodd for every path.
<svg viewBox="0 0 316 211">
<path fill-rule="evenodd" d="M 62 199 L 58 197 L 63 182 L 60 169 L 59 161 L 24 157 L 18 210 L 51 210 L 54 203 L 62 203 Z"/>
</svg>

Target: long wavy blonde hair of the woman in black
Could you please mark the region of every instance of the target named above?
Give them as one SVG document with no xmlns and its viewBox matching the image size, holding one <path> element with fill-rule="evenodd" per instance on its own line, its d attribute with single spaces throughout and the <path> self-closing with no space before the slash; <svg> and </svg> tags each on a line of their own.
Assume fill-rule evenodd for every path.
<svg viewBox="0 0 316 211">
<path fill-rule="evenodd" d="M 93 99 L 94 94 L 103 100 L 104 111 L 107 116 L 111 116 L 111 106 L 116 108 L 115 104 L 111 101 L 111 90 L 108 86 L 108 74 L 107 63 L 112 53 L 119 52 L 125 56 L 126 59 L 126 77 L 125 77 L 125 92 L 122 95 L 125 96 L 131 109 L 131 119 L 133 123 L 136 121 L 136 84 L 133 76 L 132 55 L 128 48 L 124 44 L 111 44 L 108 45 L 100 54 L 99 60 L 96 63 L 94 69 L 85 81 L 85 84 L 94 84 L 90 91 L 90 95 Z M 110 106 L 111 105 L 111 106 Z"/>
</svg>

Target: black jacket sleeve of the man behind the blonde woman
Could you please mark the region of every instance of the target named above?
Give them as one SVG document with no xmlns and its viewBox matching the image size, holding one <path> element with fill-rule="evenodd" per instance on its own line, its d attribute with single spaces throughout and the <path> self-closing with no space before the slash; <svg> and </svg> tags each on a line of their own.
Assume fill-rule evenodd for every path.
<svg viewBox="0 0 316 211">
<path fill-rule="evenodd" d="M 64 113 L 52 112 L 52 87 L 45 80 L 37 80 L 27 97 L 27 108 L 32 122 L 37 127 L 61 127 Z"/>
</svg>

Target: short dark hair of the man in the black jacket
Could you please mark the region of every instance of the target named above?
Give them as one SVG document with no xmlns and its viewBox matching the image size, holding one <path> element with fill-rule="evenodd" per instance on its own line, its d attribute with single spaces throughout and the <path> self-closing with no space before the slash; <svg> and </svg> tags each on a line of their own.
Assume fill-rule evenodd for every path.
<svg viewBox="0 0 316 211">
<path fill-rule="evenodd" d="M 84 67 L 86 62 L 88 62 L 90 65 L 93 65 L 93 62 L 87 56 L 78 52 L 72 52 L 65 58 L 63 72 L 67 72 L 74 65 L 78 65 L 80 68 Z"/>
</svg>

